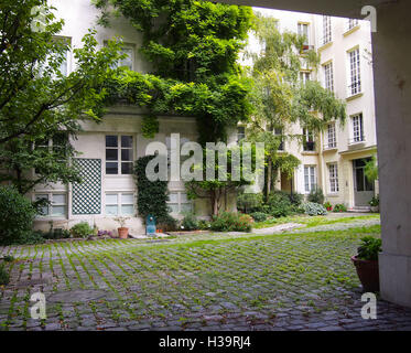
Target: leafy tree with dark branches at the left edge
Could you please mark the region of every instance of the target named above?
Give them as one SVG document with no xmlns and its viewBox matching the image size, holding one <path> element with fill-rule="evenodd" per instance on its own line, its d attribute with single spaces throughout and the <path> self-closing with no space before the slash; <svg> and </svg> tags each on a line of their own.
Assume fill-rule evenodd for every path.
<svg viewBox="0 0 411 353">
<path fill-rule="evenodd" d="M 64 22 L 53 10 L 46 0 L 1 1 L 0 168 L 8 175 L 0 181 L 11 181 L 21 193 L 37 183 L 78 181 L 69 164 L 75 156 L 69 138 L 84 119 L 101 117 L 102 84 L 121 57 L 120 43 L 97 50 L 89 31 L 83 47 L 73 50 L 76 69 L 66 76 L 61 67 L 72 47 L 58 38 Z M 60 139 L 58 148 L 36 149 L 50 139 Z"/>
</svg>

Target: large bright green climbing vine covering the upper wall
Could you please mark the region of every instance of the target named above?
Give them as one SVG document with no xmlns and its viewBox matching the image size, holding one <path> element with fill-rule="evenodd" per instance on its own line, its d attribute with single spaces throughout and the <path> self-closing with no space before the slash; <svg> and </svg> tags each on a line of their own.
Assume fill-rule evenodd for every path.
<svg viewBox="0 0 411 353">
<path fill-rule="evenodd" d="M 250 82 L 237 58 L 252 23 L 247 7 L 194 0 L 96 0 L 100 24 L 121 14 L 143 34 L 152 74 L 125 69 L 107 82 L 107 103 L 126 99 L 151 114 L 196 117 L 199 142 L 226 140 L 251 111 Z"/>
</svg>

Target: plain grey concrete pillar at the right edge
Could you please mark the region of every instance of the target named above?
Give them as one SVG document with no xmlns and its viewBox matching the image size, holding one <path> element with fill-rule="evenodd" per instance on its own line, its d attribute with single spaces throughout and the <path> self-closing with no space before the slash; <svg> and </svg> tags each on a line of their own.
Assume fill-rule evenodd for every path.
<svg viewBox="0 0 411 353">
<path fill-rule="evenodd" d="M 372 35 L 383 299 L 411 307 L 411 2 L 378 7 Z"/>
</svg>

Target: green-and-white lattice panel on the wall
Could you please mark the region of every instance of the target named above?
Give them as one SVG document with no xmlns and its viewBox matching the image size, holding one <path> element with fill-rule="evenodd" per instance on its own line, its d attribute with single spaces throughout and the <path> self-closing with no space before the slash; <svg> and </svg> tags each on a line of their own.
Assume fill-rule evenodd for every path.
<svg viewBox="0 0 411 353">
<path fill-rule="evenodd" d="M 73 183 L 74 215 L 101 213 L 101 160 L 75 159 L 82 183 Z"/>
</svg>

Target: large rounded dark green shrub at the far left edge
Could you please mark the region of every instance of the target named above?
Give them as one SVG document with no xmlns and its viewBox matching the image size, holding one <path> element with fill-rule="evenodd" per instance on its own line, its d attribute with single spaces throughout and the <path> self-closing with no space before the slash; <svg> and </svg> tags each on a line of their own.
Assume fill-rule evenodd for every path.
<svg viewBox="0 0 411 353">
<path fill-rule="evenodd" d="M 0 244 L 21 244 L 33 226 L 35 207 L 14 188 L 0 186 Z"/>
</svg>

